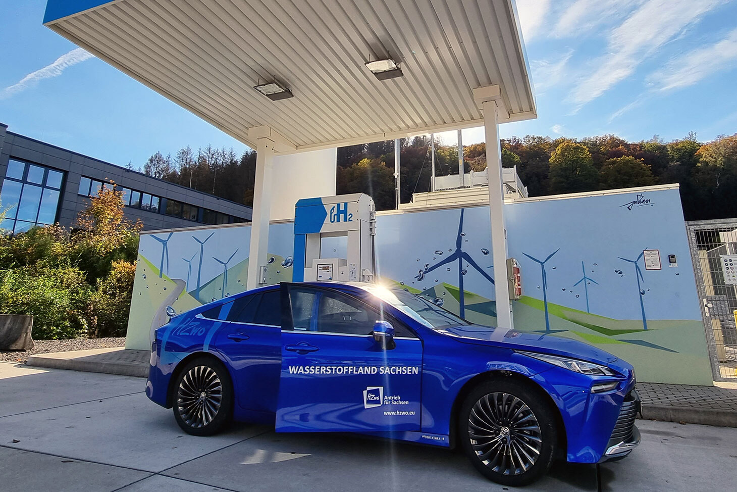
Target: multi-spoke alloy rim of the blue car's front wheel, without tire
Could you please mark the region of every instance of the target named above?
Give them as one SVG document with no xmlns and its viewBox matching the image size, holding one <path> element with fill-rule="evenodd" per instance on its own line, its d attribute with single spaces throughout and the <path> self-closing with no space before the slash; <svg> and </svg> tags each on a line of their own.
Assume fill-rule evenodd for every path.
<svg viewBox="0 0 737 492">
<path fill-rule="evenodd" d="M 483 395 L 471 409 L 468 435 L 484 465 L 502 475 L 519 475 L 537 462 L 542 430 L 527 403 L 509 393 Z"/>
</svg>

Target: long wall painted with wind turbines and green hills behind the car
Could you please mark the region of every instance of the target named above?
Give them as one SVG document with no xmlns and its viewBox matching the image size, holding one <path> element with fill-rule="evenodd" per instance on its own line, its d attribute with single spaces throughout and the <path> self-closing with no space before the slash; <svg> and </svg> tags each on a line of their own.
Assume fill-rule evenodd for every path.
<svg viewBox="0 0 737 492">
<path fill-rule="evenodd" d="M 640 381 L 711 384 L 677 189 L 505 207 L 523 277 L 517 330 L 595 344 L 632 362 Z M 243 291 L 249 240 L 249 226 L 142 235 L 127 346 L 149 346 L 168 304 L 182 311 Z M 377 218 L 383 281 L 485 325 L 496 321 L 490 248 L 486 207 Z M 293 224 L 272 224 L 269 252 L 269 283 L 291 280 Z"/>
</svg>

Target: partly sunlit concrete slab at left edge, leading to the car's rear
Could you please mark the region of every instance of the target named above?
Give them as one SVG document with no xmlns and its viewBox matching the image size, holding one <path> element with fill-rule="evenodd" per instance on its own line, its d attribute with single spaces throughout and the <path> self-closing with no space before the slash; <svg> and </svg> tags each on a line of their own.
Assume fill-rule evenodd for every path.
<svg viewBox="0 0 737 492">
<path fill-rule="evenodd" d="M 0 362 L 0 417 L 142 392 L 141 378 L 46 370 Z"/>
</svg>

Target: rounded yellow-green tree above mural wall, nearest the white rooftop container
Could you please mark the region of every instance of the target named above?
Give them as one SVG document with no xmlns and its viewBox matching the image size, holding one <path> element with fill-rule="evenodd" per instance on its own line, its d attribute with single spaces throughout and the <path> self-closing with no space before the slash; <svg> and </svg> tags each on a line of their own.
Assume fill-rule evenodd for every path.
<svg viewBox="0 0 737 492">
<path fill-rule="evenodd" d="M 585 145 L 562 142 L 550 158 L 551 193 L 576 193 L 595 190 L 598 171 Z"/>
</svg>

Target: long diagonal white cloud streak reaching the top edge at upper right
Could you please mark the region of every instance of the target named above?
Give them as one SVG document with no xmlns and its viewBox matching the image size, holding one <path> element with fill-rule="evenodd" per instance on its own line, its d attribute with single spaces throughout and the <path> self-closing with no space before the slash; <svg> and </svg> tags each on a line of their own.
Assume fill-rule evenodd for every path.
<svg viewBox="0 0 737 492">
<path fill-rule="evenodd" d="M 578 108 L 635 72 L 646 58 L 724 0 L 648 0 L 608 36 L 607 54 L 576 86 L 571 100 Z"/>
</svg>

